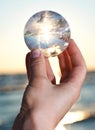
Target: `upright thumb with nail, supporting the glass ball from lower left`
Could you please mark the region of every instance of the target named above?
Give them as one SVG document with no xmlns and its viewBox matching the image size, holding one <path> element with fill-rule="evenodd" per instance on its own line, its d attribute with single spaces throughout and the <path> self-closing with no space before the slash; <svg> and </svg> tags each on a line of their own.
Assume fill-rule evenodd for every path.
<svg viewBox="0 0 95 130">
<path fill-rule="evenodd" d="M 29 79 L 47 77 L 45 59 L 39 49 L 32 50 L 31 53 L 29 53 L 28 59 L 30 60 L 27 60 L 26 57 L 26 65 L 29 64 L 28 67 L 26 67 Z"/>
</svg>

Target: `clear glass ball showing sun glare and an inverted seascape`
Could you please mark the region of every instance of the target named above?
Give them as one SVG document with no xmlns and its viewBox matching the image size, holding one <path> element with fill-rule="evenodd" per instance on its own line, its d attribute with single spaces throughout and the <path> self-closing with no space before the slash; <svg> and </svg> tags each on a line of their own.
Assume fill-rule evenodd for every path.
<svg viewBox="0 0 95 130">
<path fill-rule="evenodd" d="M 30 50 L 39 48 L 45 57 L 56 56 L 69 45 L 70 27 L 60 14 L 40 11 L 26 23 L 24 39 Z"/>
</svg>

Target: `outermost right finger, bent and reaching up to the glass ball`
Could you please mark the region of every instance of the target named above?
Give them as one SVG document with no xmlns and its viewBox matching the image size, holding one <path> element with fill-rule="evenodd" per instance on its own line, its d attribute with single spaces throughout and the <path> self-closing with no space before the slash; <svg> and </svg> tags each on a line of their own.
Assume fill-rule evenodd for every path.
<svg viewBox="0 0 95 130">
<path fill-rule="evenodd" d="M 83 56 L 72 39 L 70 40 L 70 45 L 67 50 L 72 63 L 72 72 L 70 73 L 69 82 L 81 84 L 86 75 L 86 64 Z"/>
</svg>

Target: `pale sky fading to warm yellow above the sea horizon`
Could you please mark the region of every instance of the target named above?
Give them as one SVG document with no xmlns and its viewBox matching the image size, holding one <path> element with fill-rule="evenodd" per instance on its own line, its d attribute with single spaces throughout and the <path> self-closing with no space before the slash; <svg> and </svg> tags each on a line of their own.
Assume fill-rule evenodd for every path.
<svg viewBox="0 0 95 130">
<path fill-rule="evenodd" d="M 0 0 L 0 74 L 26 72 L 24 26 L 42 10 L 66 18 L 88 70 L 95 70 L 95 0 Z"/>
</svg>

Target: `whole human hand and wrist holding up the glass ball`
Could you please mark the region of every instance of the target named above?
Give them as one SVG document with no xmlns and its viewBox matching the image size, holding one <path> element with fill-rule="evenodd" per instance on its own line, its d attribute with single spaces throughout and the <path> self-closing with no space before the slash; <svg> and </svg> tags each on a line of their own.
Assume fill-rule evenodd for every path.
<svg viewBox="0 0 95 130">
<path fill-rule="evenodd" d="M 73 40 L 58 58 L 62 77 L 57 85 L 49 61 L 43 54 L 36 50 L 26 56 L 29 85 L 13 130 L 53 130 L 78 99 L 86 65 Z"/>
</svg>

